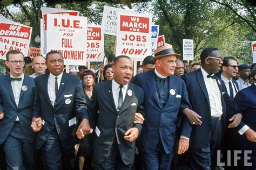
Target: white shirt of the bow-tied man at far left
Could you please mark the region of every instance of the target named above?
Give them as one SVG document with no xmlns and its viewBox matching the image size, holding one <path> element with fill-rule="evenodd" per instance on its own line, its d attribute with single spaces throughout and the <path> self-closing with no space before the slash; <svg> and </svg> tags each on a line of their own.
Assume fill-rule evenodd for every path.
<svg viewBox="0 0 256 170">
<path fill-rule="evenodd" d="M 11 74 L 10 74 L 10 77 L 16 79 Z M 18 105 L 19 105 L 19 95 L 21 94 L 21 88 L 22 88 L 22 84 L 23 84 L 23 80 L 24 80 L 24 74 L 22 74 L 21 76 L 19 76 L 17 78 L 22 78 L 22 80 L 21 81 L 12 80 L 11 81 L 11 88 L 12 88 L 12 91 L 14 93 L 15 103 L 16 103 L 16 105 L 18 107 Z M 19 117 L 18 116 L 16 118 L 16 121 L 19 121 Z"/>
</svg>

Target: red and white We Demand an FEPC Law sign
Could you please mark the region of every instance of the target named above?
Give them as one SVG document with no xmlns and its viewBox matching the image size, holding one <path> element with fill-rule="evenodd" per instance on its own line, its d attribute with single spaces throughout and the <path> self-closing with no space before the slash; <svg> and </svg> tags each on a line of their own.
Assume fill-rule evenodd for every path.
<svg viewBox="0 0 256 170">
<path fill-rule="evenodd" d="M 16 49 L 28 56 L 32 27 L 0 17 L 0 59 L 5 60 L 8 51 Z"/>
</svg>

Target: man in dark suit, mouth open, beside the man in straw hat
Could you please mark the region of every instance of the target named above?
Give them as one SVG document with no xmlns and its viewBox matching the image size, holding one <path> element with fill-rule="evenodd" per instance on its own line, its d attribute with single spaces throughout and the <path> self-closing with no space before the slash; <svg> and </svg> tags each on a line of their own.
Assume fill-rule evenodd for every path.
<svg viewBox="0 0 256 170">
<path fill-rule="evenodd" d="M 96 132 L 93 154 L 96 169 L 131 169 L 134 140 L 142 130 L 142 125 L 133 121 L 135 112 L 143 114 L 143 90 L 130 83 L 133 66 L 128 56 L 117 56 L 112 70 L 113 80 L 93 87 L 89 108 Z"/>
</svg>

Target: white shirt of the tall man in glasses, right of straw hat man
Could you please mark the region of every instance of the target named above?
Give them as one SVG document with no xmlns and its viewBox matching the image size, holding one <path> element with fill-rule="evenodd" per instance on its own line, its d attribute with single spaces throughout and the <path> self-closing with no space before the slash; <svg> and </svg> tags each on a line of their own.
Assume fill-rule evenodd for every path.
<svg viewBox="0 0 256 170">
<path fill-rule="evenodd" d="M 208 92 L 208 97 L 210 101 L 210 108 L 211 108 L 211 116 L 213 117 L 220 117 L 222 112 L 222 105 L 221 105 L 221 96 L 220 90 L 218 87 L 219 82 L 217 82 L 216 79 L 207 78 L 208 73 L 203 69 L 203 67 L 200 68 L 201 72 L 203 73 L 205 86 Z"/>
</svg>

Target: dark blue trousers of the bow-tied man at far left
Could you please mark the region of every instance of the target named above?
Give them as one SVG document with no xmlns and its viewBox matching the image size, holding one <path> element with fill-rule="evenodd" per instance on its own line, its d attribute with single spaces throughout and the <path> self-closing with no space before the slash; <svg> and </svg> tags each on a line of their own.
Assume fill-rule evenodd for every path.
<svg viewBox="0 0 256 170">
<path fill-rule="evenodd" d="M 35 167 L 35 144 L 25 139 L 19 122 L 14 124 L 3 145 L 7 169 L 33 169 Z"/>
</svg>

